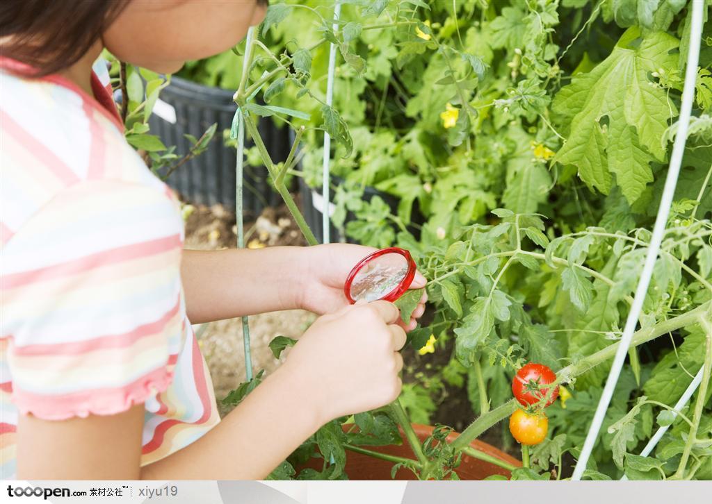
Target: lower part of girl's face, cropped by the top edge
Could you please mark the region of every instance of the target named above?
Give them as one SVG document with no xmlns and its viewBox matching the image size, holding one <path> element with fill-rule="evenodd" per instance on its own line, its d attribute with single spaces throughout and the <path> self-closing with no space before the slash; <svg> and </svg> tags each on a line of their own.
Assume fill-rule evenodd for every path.
<svg viewBox="0 0 712 504">
<path fill-rule="evenodd" d="M 119 60 L 174 73 L 234 46 L 266 11 L 256 0 L 132 0 L 102 40 Z"/>
</svg>

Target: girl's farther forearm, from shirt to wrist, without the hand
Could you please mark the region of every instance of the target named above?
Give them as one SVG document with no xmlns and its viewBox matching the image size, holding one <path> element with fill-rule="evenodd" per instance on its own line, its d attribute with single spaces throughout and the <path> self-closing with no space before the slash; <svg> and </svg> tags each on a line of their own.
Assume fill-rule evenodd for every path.
<svg viewBox="0 0 712 504">
<path fill-rule="evenodd" d="M 300 308 L 305 247 L 184 250 L 188 318 L 204 323 Z"/>
</svg>

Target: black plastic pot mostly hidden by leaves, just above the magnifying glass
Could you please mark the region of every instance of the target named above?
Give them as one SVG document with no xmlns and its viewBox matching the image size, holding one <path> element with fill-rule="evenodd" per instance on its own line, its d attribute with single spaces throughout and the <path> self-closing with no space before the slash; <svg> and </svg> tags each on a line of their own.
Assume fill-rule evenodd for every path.
<svg viewBox="0 0 712 504">
<path fill-rule="evenodd" d="M 299 179 L 299 194 L 302 201 L 302 212 L 304 213 L 304 219 L 307 221 L 307 224 L 314 233 L 316 239 L 319 242 L 323 242 L 324 225 L 323 214 L 321 209 L 323 209 L 325 205 L 323 205 L 322 203 L 321 188 L 310 188 L 304 181 L 303 177 L 297 178 Z M 339 184 L 344 182 L 344 179 L 340 176 L 331 176 L 332 186 L 338 186 Z M 377 188 L 366 186 L 363 191 L 362 199 L 364 201 L 370 201 L 374 196 L 379 196 L 379 198 L 381 198 L 384 203 L 389 206 L 389 208 L 391 209 L 391 213 L 397 215 L 399 199 L 396 196 L 389 193 L 384 193 L 383 191 L 379 191 Z M 352 212 L 347 212 L 346 218 L 344 220 L 344 226 L 348 222 L 352 222 L 353 220 L 357 220 L 356 215 Z M 412 222 L 418 225 L 422 225 L 425 221 L 422 213 L 420 213 L 417 203 L 414 205 L 411 220 Z M 397 230 L 396 225 L 394 225 L 394 229 Z M 414 237 L 416 237 L 417 240 L 420 239 L 420 231 L 417 227 L 407 226 L 407 229 L 413 233 Z M 343 236 L 339 232 L 339 230 L 334 227 L 334 225 L 331 225 L 330 228 L 330 238 L 331 242 L 356 243 L 356 241 L 352 238 Z"/>
</svg>

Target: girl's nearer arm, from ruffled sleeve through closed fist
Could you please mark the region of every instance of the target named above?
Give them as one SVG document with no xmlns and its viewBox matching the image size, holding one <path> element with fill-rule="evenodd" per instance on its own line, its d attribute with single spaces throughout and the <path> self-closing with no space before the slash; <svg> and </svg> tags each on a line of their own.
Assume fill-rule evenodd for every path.
<svg viewBox="0 0 712 504">
<path fill-rule="evenodd" d="M 320 425 L 387 404 L 401 390 L 406 341 L 386 301 L 320 317 L 281 368 L 199 440 L 140 468 L 142 404 L 108 416 L 47 421 L 22 415 L 17 477 L 259 479 Z"/>
</svg>

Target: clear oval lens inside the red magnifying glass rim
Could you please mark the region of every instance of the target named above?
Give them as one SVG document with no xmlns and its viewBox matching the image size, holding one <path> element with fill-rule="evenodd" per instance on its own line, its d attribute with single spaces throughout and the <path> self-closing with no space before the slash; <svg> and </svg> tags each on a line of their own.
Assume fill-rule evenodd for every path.
<svg viewBox="0 0 712 504">
<path fill-rule="evenodd" d="M 377 301 L 403 282 L 409 271 L 408 259 L 389 253 L 363 264 L 353 277 L 350 294 L 354 301 Z"/>
</svg>

